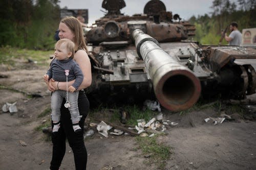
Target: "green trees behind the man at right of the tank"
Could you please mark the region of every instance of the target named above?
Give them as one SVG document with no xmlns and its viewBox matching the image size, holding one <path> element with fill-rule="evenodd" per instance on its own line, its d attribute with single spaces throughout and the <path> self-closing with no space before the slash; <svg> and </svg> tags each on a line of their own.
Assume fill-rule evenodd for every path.
<svg viewBox="0 0 256 170">
<path fill-rule="evenodd" d="M 239 30 L 256 27 L 256 1 L 230 0 L 212 1 L 211 16 L 192 16 L 189 21 L 196 26 L 195 39 L 201 44 L 218 44 L 221 37 L 221 30 L 224 30 L 232 21 L 238 22 Z M 227 31 L 229 34 L 229 30 Z M 227 44 L 223 39 L 222 44 Z"/>
</svg>

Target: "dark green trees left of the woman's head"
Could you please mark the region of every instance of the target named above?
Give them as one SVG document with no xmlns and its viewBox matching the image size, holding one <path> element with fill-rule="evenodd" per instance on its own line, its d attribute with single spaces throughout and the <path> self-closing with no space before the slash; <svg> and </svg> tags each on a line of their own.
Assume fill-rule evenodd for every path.
<svg viewBox="0 0 256 170">
<path fill-rule="evenodd" d="M 0 43 L 49 50 L 59 22 L 57 0 L 1 1 Z"/>
</svg>

